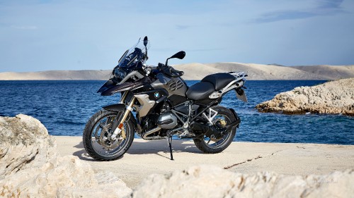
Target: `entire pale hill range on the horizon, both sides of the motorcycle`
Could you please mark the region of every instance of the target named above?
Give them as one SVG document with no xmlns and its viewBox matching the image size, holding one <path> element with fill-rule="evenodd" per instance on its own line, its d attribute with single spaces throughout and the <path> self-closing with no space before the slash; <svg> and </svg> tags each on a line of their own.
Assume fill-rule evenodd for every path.
<svg viewBox="0 0 354 198">
<path fill-rule="evenodd" d="M 212 73 L 244 71 L 249 80 L 333 80 L 353 78 L 354 66 L 280 66 L 253 63 L 188 63 L 173 66 L 183 70 L 185 80 L 200 80 Z M 30 73 L 0 73 L 0 80 L 108 80 L 111 70 L 49 70 Z"/>
</svg>

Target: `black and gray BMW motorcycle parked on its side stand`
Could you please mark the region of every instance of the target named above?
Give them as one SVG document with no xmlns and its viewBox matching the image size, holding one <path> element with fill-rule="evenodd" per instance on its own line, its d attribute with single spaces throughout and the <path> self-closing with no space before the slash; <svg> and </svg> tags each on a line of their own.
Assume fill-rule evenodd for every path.
<svg viewBox="0 0 354 198">
<path fill-rule="evenodd" d="M 241 120 L 234 109 L 220 106 L 222 97 L 235 91 L 247 101 L 243 72 L 215 73 L 187 86 L 183 71 L 168 65 L 171 58 L 183 59 L 179 51 L 166 63 L 147 66 L 147 37 L 125 51 L 110 80 L 98 90 L 102 96 L 120 93 L 118 104 L 104 106 L 84 129 L 83 142 L 93 159 L 118 159 L 132 145 L 135 132 L 144 140 L 167 139 L 173 160 L 173 136 L 193 139 L 195 146 L 215 154 L 231 144 Z"/>
</svg>

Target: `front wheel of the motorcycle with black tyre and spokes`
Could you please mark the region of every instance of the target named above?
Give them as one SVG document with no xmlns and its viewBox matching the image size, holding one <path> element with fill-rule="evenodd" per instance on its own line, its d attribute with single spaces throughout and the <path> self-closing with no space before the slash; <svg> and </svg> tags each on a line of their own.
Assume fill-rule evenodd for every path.
<svg viewBox="0 0 354 198">
<path fill-rule="evenodd" d="M 87 153 L 93 159 L 100 161 L 118 159 L 132 145 L 135 128 L 130 120 L 125 120 L 125 123 L 123 123 L 125 135 L 120 133 L 116 140 L 110 139 L 113 134 L 113 130 L 111 130 L 113 121 L 118 114 L 118 112 L 101 110 L 95 113 L 86 123 L 83 143 Z"/>
</svg>

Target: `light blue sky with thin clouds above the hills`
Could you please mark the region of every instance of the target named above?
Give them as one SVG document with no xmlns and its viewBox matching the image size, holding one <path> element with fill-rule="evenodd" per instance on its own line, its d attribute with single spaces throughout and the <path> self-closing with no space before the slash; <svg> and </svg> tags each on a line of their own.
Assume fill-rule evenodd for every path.
<svg viewBox="0 0 354 198">
<path fill-rule="evenodd" d="M 110 70 L 144 36 L 153 66 L 354 65 L 354 1 L 0 0 L 0 72 Z"/>
</svg>

